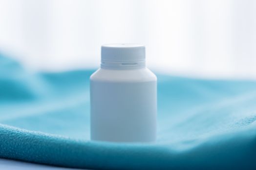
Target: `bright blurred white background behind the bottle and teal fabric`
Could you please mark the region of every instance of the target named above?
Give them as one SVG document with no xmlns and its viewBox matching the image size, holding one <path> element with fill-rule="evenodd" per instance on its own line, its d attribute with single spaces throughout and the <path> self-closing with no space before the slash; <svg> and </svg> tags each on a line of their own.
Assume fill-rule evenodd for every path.
<svg viewBox="0 0 256 170">
<path fill-rule="evenodd" d="M 0 0 L 0 51 L 29 68 L 98 68 L 119 42 L 157 71 L 256 79 L 256 0 Z"/>
</svg>

